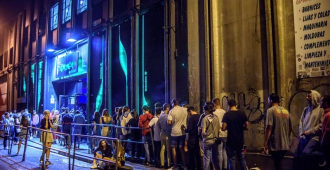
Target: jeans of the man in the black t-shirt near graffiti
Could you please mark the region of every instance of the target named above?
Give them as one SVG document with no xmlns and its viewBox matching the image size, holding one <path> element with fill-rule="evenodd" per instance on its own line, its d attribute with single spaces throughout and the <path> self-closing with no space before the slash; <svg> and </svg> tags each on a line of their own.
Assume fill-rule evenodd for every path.
<svg viewBox="0 0 330 170">
<path fill-rule="evenodd" d="M 235 149 L 231 148 L 230 146 L 226 145 L 225 151 L 226 151 L 227 157 L 229 159 L 229 170 L 235 170 L 235 154 L 238 158 L 241 169 L 247 170 L 244 154 L 241 149 L 235 150 Z"/>
</svg>

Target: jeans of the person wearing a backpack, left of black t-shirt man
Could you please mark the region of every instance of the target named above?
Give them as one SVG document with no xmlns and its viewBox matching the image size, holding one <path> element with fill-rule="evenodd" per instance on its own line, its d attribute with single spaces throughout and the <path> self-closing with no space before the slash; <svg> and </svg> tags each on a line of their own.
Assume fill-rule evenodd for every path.
<svg viewBox="0 0 330 170">
<path fill-rule="evenodd" d="M 220 155 L 222 154 L 222 143 L 214 144 L 212 140 L 203 140 L 204 151 L 204 169 L 210 170 L 210 158 L 216 170 L 222 169 L 222 161 L 220 162 Z"/>
</svg>

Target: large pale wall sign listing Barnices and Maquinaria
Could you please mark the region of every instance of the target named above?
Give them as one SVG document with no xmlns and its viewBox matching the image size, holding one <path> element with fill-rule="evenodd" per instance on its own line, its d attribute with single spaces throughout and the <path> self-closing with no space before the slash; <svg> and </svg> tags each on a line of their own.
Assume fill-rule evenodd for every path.
<svg viewBox="0 0 330 170">
<path fill-rule="evenodd" d="M 330 0 L 293 0 L 298 78 L 330 75 Z"/>
</svg>

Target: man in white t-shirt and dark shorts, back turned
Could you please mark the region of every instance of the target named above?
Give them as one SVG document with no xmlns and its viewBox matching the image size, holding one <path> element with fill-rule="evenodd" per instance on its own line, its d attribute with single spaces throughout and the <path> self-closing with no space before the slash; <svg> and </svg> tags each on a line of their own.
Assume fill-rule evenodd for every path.
<svg viewBox="0 0 330 170">
<path fill-rule="evenodd" d="M 172 125 L 171 131 L 171 141 L 170 146 L 172 147 L 172 156 L 174 161 L 174 166 L 170 169 L 178 169 L 177 158 L 176 158 L 176 146 L 179 146 L 180 152 L 184 152 L 184 141 L 185 141 L 185 132 L 184 128 L 186 127 L 187 120 L 187 108 L 180 107 L 179 101 L 177 99 L 172 99 L 171 101 L 172 109 L 168 113 L 167 123 Z M 186 156 L 181 154 L 184 170 L 188 169 L 186 166 Z"/>
</svg>

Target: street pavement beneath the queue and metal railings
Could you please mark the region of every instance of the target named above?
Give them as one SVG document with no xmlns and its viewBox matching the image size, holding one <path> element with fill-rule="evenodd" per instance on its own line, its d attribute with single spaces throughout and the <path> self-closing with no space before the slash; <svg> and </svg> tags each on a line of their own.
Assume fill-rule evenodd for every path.
<svg viewBox="0 0 330 170">
<path fill-rule="evenodd" d="M 26 148 L 25 161 L 22 161 L 22 154 L 24 150 L 24 145 L 22 144 L 20 152 L 18 155 L 15 155 L 17 151 L 17 145 L 12 145 L 11 154 L 8 154 L 8 150 L 3 149 L 3 138 L 0 138 L 0 170 L 1 169 L 41 169 L 41 164 L 39 163 L 39 157 L 42 154 L 42 146 L 36 143 L 39 142 L 39 138 L 33 138 L 32 141 L 28 141 L 28 146 Z M 52 144 L 52 148 L 56 148 L 57 150 L 51 150 L 49 161 L 54 163 L 53 165 L 48 165 L 46 169 L 68 169 L 68 157 L 65 151 L 68 151 L 65 147 L 60 146 L 59 144 Z M 71 155 L 72 155 L 71 150 Z M 76 155 L 74 160 L 74 169 L 90 169 L 92 165 L 92 159 L 86 157 L 92 156 L 89 153 L 89 149 L 86 143 L 80 144 L 80 149 L 76 150 L 76 153 L 80 155 Z M 273 162 L 270 156 L 262 155 L 259 153 L 245 153 L 246 164 L 249 168 L 258 167 L 259 169 L 273 169 Z M 133 163 L 127 161 L 126 159 L 125 165 L 133 167 L 133 169 L 158 169 L 155 167 L 144 166 L 141 163 Z M 72 167 L 72 158 L 70 160 Z M 236 168 L 239 169 L 239 164 L 236 160 Z M 292 159 L 290 157 L 284 158 L 282 169 L 289 170 L 292 169 Z"/>
</svg>

